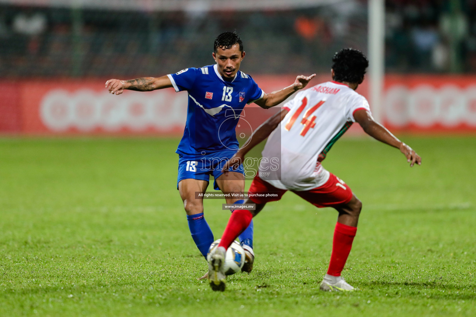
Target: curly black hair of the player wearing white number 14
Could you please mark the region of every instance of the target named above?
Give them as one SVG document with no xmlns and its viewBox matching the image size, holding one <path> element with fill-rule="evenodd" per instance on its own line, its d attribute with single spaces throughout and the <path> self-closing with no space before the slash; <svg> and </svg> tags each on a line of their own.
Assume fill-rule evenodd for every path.
<svg viewBox="0 0 476 317">
<path fill-rule="evenodd" d="M 354 48 L 343 48 L 332 58 L 334 80 L 352 84 L 360 84 L 364 78 L 368 59 Z"/>
</svg>

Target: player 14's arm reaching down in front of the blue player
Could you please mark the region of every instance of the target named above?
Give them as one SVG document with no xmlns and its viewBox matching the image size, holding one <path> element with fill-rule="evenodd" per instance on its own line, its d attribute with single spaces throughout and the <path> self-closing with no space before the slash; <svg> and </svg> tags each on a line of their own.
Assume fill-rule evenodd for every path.
<svg viewBox="0 0 476 317">
<path fill-rule="evenodd" d="M 228 162 L 223 167 L 222 172 L 228 174 L 230 168 L 232 170 L 236 170 L 245 159 L 245 155 L 249 152 L 249 150 L 266 139 L 269 134 L 271 134 L 271 132 L 273 132 L 273 130 L 278 127 L 279 123 L 284 119 L 287 113 L 288 110 L 283 108 L 281 109 L 281 112 L 271 116 L 262 125 L 260 125 L 258 129 L 256 129 L 256 131 L 251 134 L 248 140 L 246 140 L 246 145 L 239 149 L 238 152 L 228 160 Z"/>
</svg>

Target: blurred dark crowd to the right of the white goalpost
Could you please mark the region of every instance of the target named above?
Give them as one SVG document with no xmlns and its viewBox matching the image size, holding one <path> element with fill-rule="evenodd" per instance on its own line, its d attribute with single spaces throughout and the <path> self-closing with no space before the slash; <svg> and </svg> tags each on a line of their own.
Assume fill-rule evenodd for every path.
<svg viewBox="0 0 476 317">
<path fill-rule="evenodd" d="M 387 0 L 390 72 L 476 71 L 476 1 Z"/>
</svg>

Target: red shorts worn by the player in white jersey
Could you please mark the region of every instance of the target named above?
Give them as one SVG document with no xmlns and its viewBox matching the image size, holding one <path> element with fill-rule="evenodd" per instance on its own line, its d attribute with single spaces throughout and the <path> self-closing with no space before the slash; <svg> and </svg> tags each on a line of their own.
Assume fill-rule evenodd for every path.
<svg viewBox="0 0 476 317">
<path fill-rule="evenodd" d="M 275 197 L 262 197 L 269 192 L 279 194 L 275 195 Z M 248 190 L 248 194 L 250 195 L 249 199 L 254 203 L 278 201 L 285 192 L 287 192 L 287 190 L 274 187 L 270 183 L 263 181 L 258 175 L 255 176 Z M 319 208 L 340 205 L 350 202 L 352 199 L 352 190 L 350 187 L 333 173 L 330 173 L 329 179 L 322 186 L 308 191 L 292 192 Z"/>
</svg>

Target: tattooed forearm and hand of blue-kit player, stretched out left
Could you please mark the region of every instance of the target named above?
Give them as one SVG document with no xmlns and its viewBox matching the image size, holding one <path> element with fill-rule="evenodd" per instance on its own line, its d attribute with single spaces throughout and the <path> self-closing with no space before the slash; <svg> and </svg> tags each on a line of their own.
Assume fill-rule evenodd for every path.
<svg viewBox="0 0 476 317">
<path fill-rule="evenodd" d="M 114 95 L 122 94 L 124 89 L 151 91 L 170 87 L 172 87 L 172 82 L 168 76 L 141 77 L 129 80 L 109 79 L 106 82 L 106 88 L 109 88 L 109 92 Z"/>
</svg>

